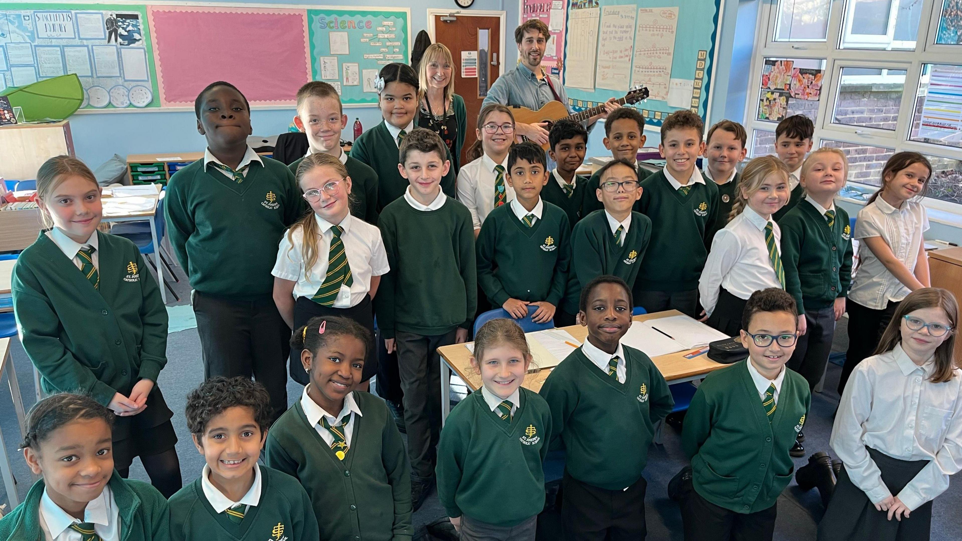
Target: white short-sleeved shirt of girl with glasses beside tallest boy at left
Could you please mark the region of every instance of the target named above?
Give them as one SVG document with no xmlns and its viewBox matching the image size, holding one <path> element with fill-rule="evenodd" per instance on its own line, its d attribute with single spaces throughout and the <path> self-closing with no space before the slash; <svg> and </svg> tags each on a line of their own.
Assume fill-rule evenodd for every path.
<svg viewBox="0 0 962 541">
<path fill-rule="evenodd" d="M 327 257 L 334 241 L 334 231 L 331 230 L 334 224 L 317 215 L 314 215 L 314 218 L 320 230 L 314 240 L 317 250 L 314 267 L 304 268 L 305 262 L 301 257 L 304 230 L 298 227 L 281 237 L 281 245 L 277 248 L 277 261 L 274 269 L 270 271 L 278 278 L 294 282 L 294 298 L 315 296 L 327 275 Z M 341 284 L 341 292 L 334 301 L 334 307 L 350 308 L 357 306 L 367 296 L 371 276 L 387 274 L 391 267 L 388 265 L 388 252 L 384 249 L 380 229 L 350 214 L 341 220 L 340 225 L 343 228 L 341 243 L 354 281 L 350 287 Z"/>
</svg>

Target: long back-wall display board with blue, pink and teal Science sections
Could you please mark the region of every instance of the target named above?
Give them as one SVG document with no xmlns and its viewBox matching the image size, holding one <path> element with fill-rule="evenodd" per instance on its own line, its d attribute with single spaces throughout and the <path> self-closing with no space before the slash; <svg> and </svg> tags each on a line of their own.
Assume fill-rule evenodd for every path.
<svg viewBox="0 0 962 541">
<path fill-rule="evenodd" d="M 214 81 L 251 107 L 277 107 L 322 80 L 344 105 L 370 105 L 381 66 L 409 60 L 410 18 L 408 8 L 4 3 L 0 90 L 77 73 L 85 112 L 184 110 Z"/>
</svg>

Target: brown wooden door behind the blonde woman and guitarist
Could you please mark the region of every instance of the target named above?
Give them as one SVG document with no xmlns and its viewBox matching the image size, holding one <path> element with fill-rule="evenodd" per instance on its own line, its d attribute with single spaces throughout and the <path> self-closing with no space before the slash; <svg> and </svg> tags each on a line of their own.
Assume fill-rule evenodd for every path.
<svg viewBox="0 0 962 541">
<path fill-rule="evenodd" d="M 442 18 L 455 20 L 445 22 Z M 474 129 L 481 103 L 501 70 L 501 20 L 464 14 L 434 15 L 434 29 L 435 42 L 446 45 L 454 57 L 454 91 L 465 98 L 465 108 L 468 109 L 468 133 L 461 149 L 463 166 L 468 163 L 465 160 L 468 147 L 475 140 Z M 462 65 L 463 60 L 468 62 Z M 476 62 L 473 69 L 472 60 Z"/>
</svg>

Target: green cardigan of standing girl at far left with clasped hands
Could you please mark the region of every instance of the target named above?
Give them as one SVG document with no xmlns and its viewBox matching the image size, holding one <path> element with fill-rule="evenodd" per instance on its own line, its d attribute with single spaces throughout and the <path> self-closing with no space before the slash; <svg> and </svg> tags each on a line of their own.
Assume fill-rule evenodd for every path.
<svg viewBox="0 0 962 541">
<path fill-rule="evenodd" d="M 103 405 L 157 381 L 167 311 L 134 243 L 96 232 L 99 289 L 41 231 L 13 266 L 13 309 L 45 393 L 88 393 Z"/>
</svg>

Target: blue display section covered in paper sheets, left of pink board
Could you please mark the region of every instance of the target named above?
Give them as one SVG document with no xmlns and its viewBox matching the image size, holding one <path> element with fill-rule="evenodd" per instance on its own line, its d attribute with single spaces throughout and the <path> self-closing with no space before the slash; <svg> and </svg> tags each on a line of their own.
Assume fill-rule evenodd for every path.
<svg viewBox="0 0 962 541">
<path fill-rule="evenodd" d="M 76 73 L 82 109 L 160 105 L 143 6 L 13 4 L 0 11 L 0 90 Z"/>
</svg>

